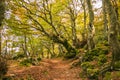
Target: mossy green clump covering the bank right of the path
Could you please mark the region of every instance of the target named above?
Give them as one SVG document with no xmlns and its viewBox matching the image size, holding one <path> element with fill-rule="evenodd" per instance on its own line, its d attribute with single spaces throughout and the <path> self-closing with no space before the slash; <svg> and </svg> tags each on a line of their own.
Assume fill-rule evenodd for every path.
<svg viewBox="0 0 120 80">
<path fill-rule="evenodd" d="M 99 69 L 107 62 L 108 48 L 103 45 L 97 45 L 91 51 L 87 51 L 83 56 L 81 63 L 83 71 L 86 72 L 87 78 L 90 80 L 98 80 Z"/>
</svg>

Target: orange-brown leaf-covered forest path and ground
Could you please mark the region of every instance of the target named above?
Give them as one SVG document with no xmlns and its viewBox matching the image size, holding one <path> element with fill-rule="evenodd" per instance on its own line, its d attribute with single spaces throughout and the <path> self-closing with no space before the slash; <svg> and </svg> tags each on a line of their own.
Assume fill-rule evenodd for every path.
<svg viewBox="0 0 120 80">
<path fill-rule="evenodd" d="M 82 80 L 80 67 L 72 68 L 73 63 L 72 60 L 61 58 L 43 59 L 38 66 L 29 67 L 14 63 L 9 65 L 7 76 L 13 76 L 13 80 Z"/>
</svg>

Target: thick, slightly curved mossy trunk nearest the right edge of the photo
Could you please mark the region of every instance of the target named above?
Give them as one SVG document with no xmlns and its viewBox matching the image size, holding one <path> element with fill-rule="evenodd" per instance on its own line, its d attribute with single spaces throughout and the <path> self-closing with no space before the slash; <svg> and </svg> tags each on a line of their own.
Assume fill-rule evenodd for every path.
<svg viewBox="0 0 120 80">
<path fill-rule="evenodd" d="M 120 45 L 119 45 L 120 43 L 117 38 L 118 18 L 110 0 L 105 0 L 105 4 L 107 6 L 107 12 L 108 12 L 109 21 L 110 21 L 110 28 L 109 28 L 110 43 L 109 44 L 112 51 L 112 65 L 114 66 L 114 62 L 120 60 Z"/>
</svg>

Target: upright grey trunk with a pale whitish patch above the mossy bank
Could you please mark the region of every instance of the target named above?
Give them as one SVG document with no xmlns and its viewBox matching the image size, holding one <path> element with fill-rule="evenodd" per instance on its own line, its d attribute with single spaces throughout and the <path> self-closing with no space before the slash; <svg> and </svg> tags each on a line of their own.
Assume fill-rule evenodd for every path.
<svg viewBox="0 0 120 80">
<path fill-rule="evenodd" d="M 88 11 L 89 11 L 89 24 L 88 24 L 88 49 L 91 50 L 95 47 L 94 43 L 94 33 L 95 33 L 95 28 L 93 25 L 94 22 L 94 12 L 92 10 L 92 5 L 91 5 L 91 0 L 86 0 L 87 6 L 88 6 Z"/>
</svg>

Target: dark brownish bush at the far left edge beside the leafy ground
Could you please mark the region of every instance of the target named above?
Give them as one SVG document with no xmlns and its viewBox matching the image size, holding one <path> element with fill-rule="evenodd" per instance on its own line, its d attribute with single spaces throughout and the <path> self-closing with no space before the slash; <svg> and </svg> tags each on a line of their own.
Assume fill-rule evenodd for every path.
<svg viewBox="0 0 120 80">
<path fill-rule="evenodd" d="M 0 58 L 0 78 L 2 78 L 8 71 L 7 62 L 5 59 Z"/>
</svg>

